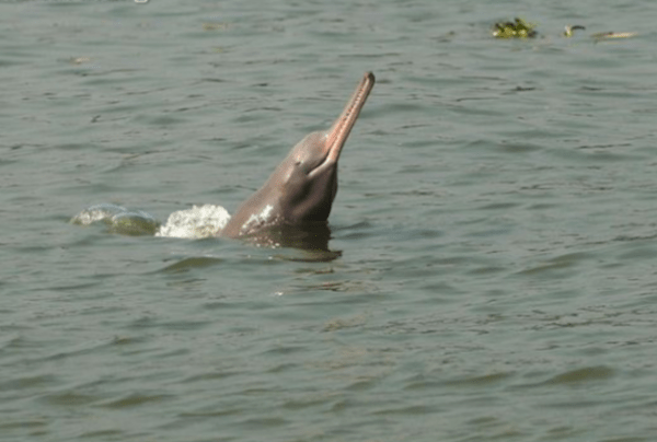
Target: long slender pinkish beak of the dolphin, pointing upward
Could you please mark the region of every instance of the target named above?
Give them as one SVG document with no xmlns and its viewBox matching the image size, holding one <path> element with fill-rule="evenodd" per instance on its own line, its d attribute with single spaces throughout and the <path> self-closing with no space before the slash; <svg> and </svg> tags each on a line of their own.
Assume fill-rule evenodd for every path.
<svg viewBox="0 0 657 442">
<path fill-rule="evenodd" d="M 356 91 L 354 91 L 354 95 L 351 95 L 347 102 L 347 105 L 345 106 L 345 109 L 341 116 L 326 132 L 327 155 L 325 162 L 337 162 L 339 153 L 342 152 L 342 148 L 345 146 L 345 141 L 347 141 L 347 137 L 356 124 L 356 119 L 360 114 L 360 109 L 365 105 L 365 102 L 373 86 L 374 74 L 367 72 L 362 80 L 360 80 L 358 88 L 356 88 Z"/>
</svg>

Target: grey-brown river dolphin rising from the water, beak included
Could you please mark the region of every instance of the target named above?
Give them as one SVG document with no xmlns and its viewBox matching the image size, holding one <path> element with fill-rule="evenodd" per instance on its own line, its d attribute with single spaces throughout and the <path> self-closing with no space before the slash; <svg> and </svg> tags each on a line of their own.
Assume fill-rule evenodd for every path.
<svg viewBox="0 0 657 442">
<path fill-rule="evenodd" d="M 367 72 L 331 129 L 297 143 L 218 234 L 251 236 L 272 226 L 325 223 L 337 193 L 337 160 L 373 85 Z"/>
</svg>

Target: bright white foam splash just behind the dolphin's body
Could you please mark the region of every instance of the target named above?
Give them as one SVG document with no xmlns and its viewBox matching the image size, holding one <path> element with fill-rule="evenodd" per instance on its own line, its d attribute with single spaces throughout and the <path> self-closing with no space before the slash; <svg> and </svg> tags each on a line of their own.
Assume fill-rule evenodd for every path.
<svg viewBox="0 0 657 442">
<path fill-rule="evenodd" d="M 155 236 L 184 239 L 217 236 L 229 220 L 230 213 L 221 206 L 194 206 L 192 209 L 171 213 Z"/>
</svg>

